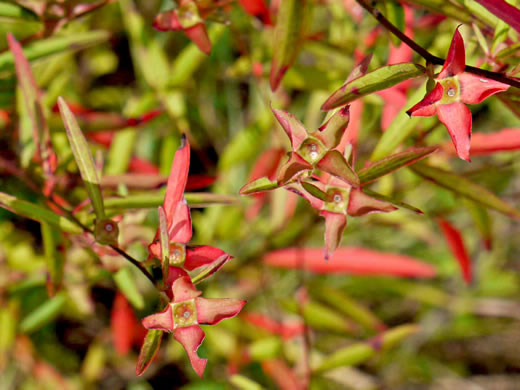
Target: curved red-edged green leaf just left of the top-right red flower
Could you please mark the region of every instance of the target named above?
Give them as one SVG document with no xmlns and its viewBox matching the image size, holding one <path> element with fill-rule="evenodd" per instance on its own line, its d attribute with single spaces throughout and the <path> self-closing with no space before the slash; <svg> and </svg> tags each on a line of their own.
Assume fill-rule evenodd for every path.
<svg viewBox="0 0 520 390">
<path fill-rule="evenodd" d="M 390 88 L 402 81 L 426 73 L 426 69 L 417 64 L 394 64 L 378 68 L 347 82 L 334 92 L 321 106 L 323 111 L 348 104 L 370 93 Z"/>
</svg>

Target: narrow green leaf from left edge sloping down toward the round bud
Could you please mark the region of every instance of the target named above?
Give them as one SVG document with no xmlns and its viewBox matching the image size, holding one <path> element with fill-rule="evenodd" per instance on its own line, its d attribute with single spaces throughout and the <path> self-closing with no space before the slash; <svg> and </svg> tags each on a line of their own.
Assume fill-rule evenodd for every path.
<svg viewBox="0 0 520 390">
<path fill-rule="evenodd" d="M 34 221 L 47 222 L 67 233 L 80 234 L 83 232 L 81 227 L 66 217 L 3 192 L 0 192 L 0 207 Z"/>
</svg>

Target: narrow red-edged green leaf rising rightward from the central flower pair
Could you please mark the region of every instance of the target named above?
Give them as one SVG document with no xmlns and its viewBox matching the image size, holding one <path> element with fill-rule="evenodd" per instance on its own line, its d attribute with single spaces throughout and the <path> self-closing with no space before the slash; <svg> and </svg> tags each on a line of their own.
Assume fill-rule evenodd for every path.
<svg viewBox="0 0 520 390">
<path fill-rule="evenodd" d="M 437 147 L 429 146 L 425 148 L 410 148 L 405 152 L 393 154 L 382 160 L 371 163 L 370 166 L 358 172 L 361 185 L 373 182 L 381 176 L 387 175 L 398 169 L 413 164 L 429 154 L 435 152 Z"/>
</svg>

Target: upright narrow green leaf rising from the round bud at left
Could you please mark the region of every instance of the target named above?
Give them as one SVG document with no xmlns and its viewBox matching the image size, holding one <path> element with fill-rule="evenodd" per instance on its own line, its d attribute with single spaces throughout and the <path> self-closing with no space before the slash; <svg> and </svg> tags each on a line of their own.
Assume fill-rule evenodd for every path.
<svg viewBox="0 0 520 390">
<path fill-rule="evenodd" d="M 67 130 L 67 137 L 69 138 L 74 159 L 78 165 L 81 178 L 87 188 L 87 193 L 94 207 L 96 218 L 98 220 L 105 218 L 105 209 L 103 207 L 103 197 L 101 195 L 101 188 L 99 187 L 99 179 L 94 165 L 94 159 L 90 154 L 90 149 L 85 139 L 85 136 L 79 128 L 78 122 L 74 117 L 69 106 L 61 97 L 58 98 L 58 105 L 60 107 L 60 114 Z"/>
</svg>

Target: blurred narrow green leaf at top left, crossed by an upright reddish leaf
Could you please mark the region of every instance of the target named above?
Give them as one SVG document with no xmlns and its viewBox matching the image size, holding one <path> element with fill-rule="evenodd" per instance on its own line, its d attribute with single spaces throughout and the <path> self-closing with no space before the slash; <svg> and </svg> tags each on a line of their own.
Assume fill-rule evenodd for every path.
<svg viewBox="0 0 520 390">
<path fill-rule="evenodd" d="M 89 31 L 66 36 L 39 39 L 24 48 L 24 55 L 29 61 L 47 57 L 64 51 L 77 51 L 97 45 L 109 38 L 105 31 Z M 10 52 L 0 54 L 0 73 L 14 71 L 14 57 Z"/>
</svg>

